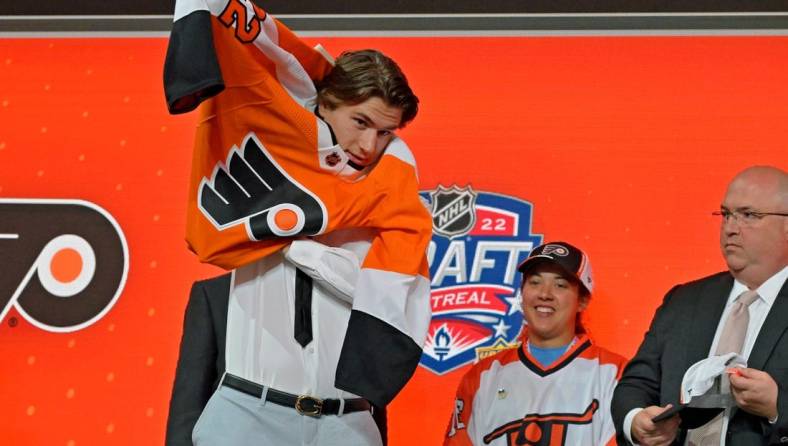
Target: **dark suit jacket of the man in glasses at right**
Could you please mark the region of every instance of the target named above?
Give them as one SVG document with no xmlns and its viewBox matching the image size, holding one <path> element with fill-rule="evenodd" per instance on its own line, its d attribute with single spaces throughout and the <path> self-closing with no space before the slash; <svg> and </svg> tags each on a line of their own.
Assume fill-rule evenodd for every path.
<svg viewBox="0 0 788 446">
<path fill-rule="evenodd" d="M 684 372 L 709 355 L 714 333 L 733 288 L 728 272 L 674 287 L 657 309 L 637 354 L 624 369 L 613 394 L 611 411 L 619 445 L 626 445 L 624 417 L 636 407 L 678 404 Z M 775 425 L 762 417 L 734 409 L 726 444 L 781 444 L 788 437 L 788 283 L 777 295 L 747 361 L 748 367 L 769 373 L 779 394 Z M 686 435 L 681 430 L 677 442 Z M 785 438 L 788 443 L 788 438 Z M 679 443 L 682 444 L 682 443 Z"/>
</svg>

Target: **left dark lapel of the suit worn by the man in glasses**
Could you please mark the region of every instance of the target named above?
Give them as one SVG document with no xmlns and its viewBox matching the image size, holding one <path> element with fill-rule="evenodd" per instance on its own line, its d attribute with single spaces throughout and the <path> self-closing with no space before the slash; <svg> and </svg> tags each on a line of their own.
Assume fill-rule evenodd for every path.
<svg viewBox="0 0 788 446">
<path fill-rule="evenodd" d="M 714 334 L 732 288 L 733 276 L 718 275 L 709 281 L 696 299 L 690 338 L 687 339 L 687 368 L 709 357 Z"/>
</svg>

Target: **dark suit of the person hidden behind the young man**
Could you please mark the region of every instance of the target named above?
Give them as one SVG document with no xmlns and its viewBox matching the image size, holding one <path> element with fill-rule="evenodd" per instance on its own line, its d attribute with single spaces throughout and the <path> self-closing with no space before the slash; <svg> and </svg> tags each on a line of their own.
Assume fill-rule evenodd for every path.
<svg viewBox="0 0 788 446">
<path fill-rule="evenodd" d="M 192 446 L 192 431 L 224 374 L 230 274 L 195 282 L 183 318 L 178 366 L 167 417 L 167 446 Z M 387 443 L 386 409 L 372 417 Z"/>
</svg>

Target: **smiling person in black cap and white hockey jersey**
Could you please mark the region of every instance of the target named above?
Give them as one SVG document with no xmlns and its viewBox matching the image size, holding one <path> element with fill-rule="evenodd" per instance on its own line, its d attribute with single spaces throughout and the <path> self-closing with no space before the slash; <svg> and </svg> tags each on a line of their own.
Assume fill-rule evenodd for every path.
<svg viewBox="0 0 788 446">
<path fill-rule="evenodd" d="M 580 322 L 593 290 L 588 256 L 569 243 L 546 243 L 518 270 L 522 343 L 462 378 L 444 444 L 612 444 L 610 401 L 626 360 L 595 345 Z"/>
</svg>

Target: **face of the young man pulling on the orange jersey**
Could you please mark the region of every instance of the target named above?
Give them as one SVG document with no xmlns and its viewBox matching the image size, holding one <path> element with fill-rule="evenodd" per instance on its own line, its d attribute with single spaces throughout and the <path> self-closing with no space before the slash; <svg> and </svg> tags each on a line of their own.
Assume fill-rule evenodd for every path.
<svg viewBox="0 0 788 446">
<path fill-rule="evenodd" d="M 319 111 L 357 167 L 369 166 L 380 158 L 402 121 L 402 109 L 376 97 L 333 110 L 321 104 Z"/>
</svg>

